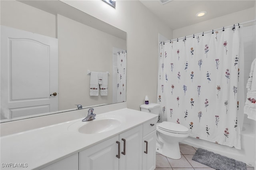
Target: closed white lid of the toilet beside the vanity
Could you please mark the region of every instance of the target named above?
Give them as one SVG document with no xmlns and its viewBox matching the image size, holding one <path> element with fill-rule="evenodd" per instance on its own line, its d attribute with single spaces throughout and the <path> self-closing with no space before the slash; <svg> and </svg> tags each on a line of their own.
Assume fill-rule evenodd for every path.
<svg viewBox="0 0 256 170">
<path fill-rule="evenodd" d="M 183 125 L 180 125 L 178 123 L 172 123 L 172 122 L 159 123 L 158 128 L 160 128 L 166 132 L 172 132 L 172 133 L 184 134 L 184 133 L 188 132 L 187 127 L 184 127 Z"/>
</svg>

